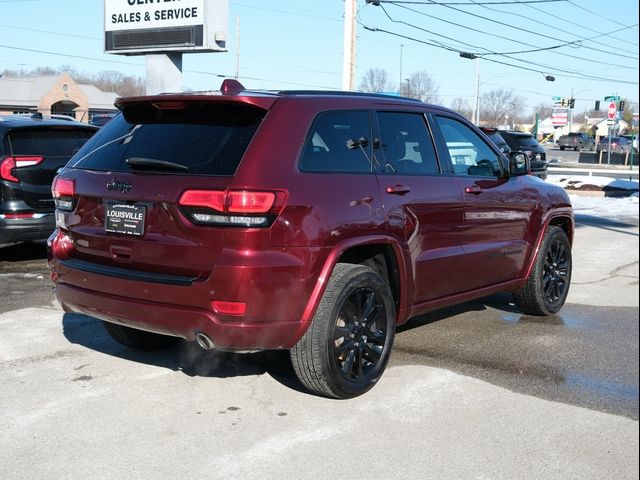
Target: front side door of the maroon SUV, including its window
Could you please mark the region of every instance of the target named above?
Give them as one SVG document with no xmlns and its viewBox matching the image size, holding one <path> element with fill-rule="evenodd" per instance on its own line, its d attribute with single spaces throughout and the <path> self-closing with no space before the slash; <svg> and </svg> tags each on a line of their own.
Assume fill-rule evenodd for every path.
<svg viewBox="0 0 640 480">
<path fill-rule="evenodd" d="M 435 125 L 464 198 L 464 290 L 513 280 L 531 248 L 534 196 L 522 177 L 504 175 L 503 157 L 470 125 L 444 113 Z"/>
</svg>

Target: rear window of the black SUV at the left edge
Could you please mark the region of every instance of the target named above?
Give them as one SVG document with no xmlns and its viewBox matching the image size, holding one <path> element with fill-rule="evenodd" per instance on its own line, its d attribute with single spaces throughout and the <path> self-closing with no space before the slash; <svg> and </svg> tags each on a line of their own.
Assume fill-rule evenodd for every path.
<svg viewBox="0 0 640 480">
<path fill-rule="evenodd" d="M 93 130 L 64 127 L 16 129 L 7 135 L 8 151 L 12 155 L 71 157 L 93 134 Z"/>
</svg>

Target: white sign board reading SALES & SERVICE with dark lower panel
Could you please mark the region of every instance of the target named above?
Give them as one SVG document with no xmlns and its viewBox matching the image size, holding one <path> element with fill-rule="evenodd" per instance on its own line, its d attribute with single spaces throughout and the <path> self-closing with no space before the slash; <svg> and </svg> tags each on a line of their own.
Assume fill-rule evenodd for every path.
<svg viewBox="0 0 640 480">
<path fill-rule="evenodd" d="M 104 0 L 105 52 L 225 52 L 228 0 Z"/>
</svg>

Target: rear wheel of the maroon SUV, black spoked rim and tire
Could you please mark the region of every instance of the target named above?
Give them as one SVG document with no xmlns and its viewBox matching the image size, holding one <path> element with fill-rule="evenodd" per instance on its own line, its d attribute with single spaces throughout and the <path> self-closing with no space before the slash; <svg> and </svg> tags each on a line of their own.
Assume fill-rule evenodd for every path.
<svg viewBox="0 0 640 480">
<path fill-rule="evenodd" d="M 382 376 L 395 335 L 395 307 L 387 281 L 364 265 L 339 263 L 313 321 L 291 349 L 302 384 L 331 398 L 352 398 Z"/>
</svg>

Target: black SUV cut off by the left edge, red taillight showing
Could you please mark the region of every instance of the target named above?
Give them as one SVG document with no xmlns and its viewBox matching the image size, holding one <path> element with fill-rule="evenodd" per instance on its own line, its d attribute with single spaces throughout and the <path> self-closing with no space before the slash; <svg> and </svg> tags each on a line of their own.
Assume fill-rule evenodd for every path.
<svg viewBox="0 0 640 480">
<path fill-rule="evenodd" d="M 96 130 L 68 120 L 0 117 L 0 245 L 49 237 L 53 177 Z"/>
</svg>

